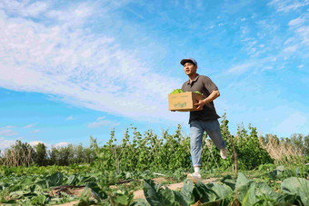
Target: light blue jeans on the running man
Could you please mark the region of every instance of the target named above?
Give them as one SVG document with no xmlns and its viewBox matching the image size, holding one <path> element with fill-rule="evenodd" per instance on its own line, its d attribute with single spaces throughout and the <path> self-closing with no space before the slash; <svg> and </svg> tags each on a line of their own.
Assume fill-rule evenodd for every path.
<svg viewBox="0 0 309 206">
<path fill-rule="evenodd" d="M 193 121 L 190 123 L 190 147 L 193 166 L 202 166 L 202 141 L 206 131 L 218 149 L 226 147 L 226 143 L 221 135 L 218 120 L 212 122 Z"/>
</svg>

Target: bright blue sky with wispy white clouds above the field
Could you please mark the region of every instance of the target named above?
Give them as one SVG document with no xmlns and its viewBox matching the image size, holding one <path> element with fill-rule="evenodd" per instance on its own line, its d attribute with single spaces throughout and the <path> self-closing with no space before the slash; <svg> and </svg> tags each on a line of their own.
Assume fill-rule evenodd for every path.
<svg viewBox="0 0 309 206">
<path fill-rule="evenodd" d="M 167 109 L 186 57 L 217 84 L 232 133 L 308 134 L 308 20 L 308 0 L 2 0 L 0 150 L 104 143 L 111 128 L 121 140 L 131 124 L 188 134 L 188 113 Z"/>
</svg>

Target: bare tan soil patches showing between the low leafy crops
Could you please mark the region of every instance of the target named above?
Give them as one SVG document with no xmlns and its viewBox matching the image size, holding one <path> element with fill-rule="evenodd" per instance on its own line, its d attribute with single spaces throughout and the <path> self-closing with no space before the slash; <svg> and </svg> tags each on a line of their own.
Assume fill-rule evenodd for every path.
<svg viewBox="0 0 309 206">
<path fill-rule="evenodd" d="M 164 177 L 159 177 L 159 178 L 155 178 L 154 179 L 155 183 L 160 183 L 160 182 L 163 182 L 163 181 L 166 181 L 166 179 Z M 216 181 L 218 181 L 218 178 L 208 178 L 208 179 L 203 180 L 202 182 L 204 184 L 206 184 L 206 183 L 216 182 Z M 167 184 L 166 186 L 169 189 L 175 191 L 175 190 L 180 190 L 183 187 L 183 185 L 184 185 L 184 182 L 179 182 L 179 183 L 174 183 L 174 184 Z M 76 195 L 76 196 L 81 196 L 82 192 L 84 191 L 84 188 L 64 189 L 62 191 L 66 192 L 68 194 L 73 194 L 73 195 Z M 51 192 L 53 194 L 56 194 L 57 191 L 51 191 Z M 134 194 L 135 194 L 135 200 L 137 200 L 137 199 L 144 199 L 145 198 L 143 190 L 134 191 Z M 78 203 L 78 201 L 71 201 L 71 202 L 67 202 L 67 203 L 59 204 L 59 205 L 61 205 L 61 206 L 73 206 L 76 203 Z"/>
</svg>

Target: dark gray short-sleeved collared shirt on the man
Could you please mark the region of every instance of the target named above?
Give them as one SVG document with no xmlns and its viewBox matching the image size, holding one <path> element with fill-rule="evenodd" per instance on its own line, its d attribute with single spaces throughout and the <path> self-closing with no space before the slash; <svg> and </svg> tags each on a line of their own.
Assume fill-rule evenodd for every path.
<svg viewBox="0 0 309 206">
<path fill-rule="evenodd" d="M 190 83 L 190 81 L 186 81 L 182 89 L 184 92 L 194 92 L 198 91 L 203 93 L 204 98 L 207 98 L 210 93 L 213 93 L 214 90 L 218 90 L 218 87 L 213 83 L 213 81 L 204 75 L 197 74 L 194 78 L 194 81 Z M 214 102 L 204 104 L 203 110 L 190 112 L 189 123 L 193 121 L 202 121 L 202 122 L 210 122 L 220 118 L 220 116 L 215 112 Z"/>
</svg>

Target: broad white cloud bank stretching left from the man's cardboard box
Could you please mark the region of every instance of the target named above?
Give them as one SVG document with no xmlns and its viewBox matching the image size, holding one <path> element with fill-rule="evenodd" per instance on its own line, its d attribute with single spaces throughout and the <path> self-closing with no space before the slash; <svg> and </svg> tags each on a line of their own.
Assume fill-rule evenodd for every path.
<svg viewBox="0 0 309 206">
<path fill-rule="evenodd" d="M 177 120 L 167 110 L 167 94 L 182 81 L 155 74 L 115 38 L 88 34 L 83 26 L 95 8 L 75 8 L 69 13 L 75 21 L 50 25 L 0 11 L 0 87 L 50 93 L 67 103 L 139 120 Z M 48 14 L 53 12 L 65 15 Z"/>
</svg>

